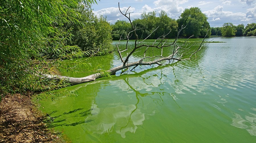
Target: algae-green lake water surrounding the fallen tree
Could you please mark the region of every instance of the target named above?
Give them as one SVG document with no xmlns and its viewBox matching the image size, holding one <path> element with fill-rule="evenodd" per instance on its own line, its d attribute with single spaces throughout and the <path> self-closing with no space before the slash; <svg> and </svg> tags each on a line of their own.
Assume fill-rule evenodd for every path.
<svg viewBox="0 0 256 143">
<path fill-rule="evenodd" d="M 61 89 L 78 96 L 44 99 L 40 109 L 71 142 L 256 142 L 256 38 L 207 40 L 226 43 L 208 44 L 193 60 Z M 89 61 L 121 64 L 114 53 Z"/>
</svg>

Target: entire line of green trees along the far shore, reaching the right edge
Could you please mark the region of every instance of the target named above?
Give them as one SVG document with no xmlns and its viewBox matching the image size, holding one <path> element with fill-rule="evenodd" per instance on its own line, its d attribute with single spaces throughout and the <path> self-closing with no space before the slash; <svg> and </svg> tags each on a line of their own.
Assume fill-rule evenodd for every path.
<svg viewBox="0 0 256 143">
<path fill-rule="evenodd" d="M 156 31 L 152 33 L 148 38 L 156 39 L 162 34 L 167 34 L 166 38 L 175 38 L 177 31 L 182 27 L 185 27 L 181 31 L 181 37 L 203 38 L 206 34 L 209 36 L 256 36 L 256 24 L 247 24 L 245 27 L 243 24 L 238 26 L 232 23 L 224 23 L 222 27 L 210 27 L 207 16 L 202 13 L 200 8 L 191 7 L 186 8 L 179 16 L 179 19 L 175 20 L 167 16 L 165 11 L 159 12 L 159 16 L 156 17 L 156 12 L 143 12 L 141 18 L 134 19 L 132 21 L 136 29 L 141 29 L 138 32 L 140 38 L 144 39 L 149 33 L 152 33 L 156 28 Z M 128 21 L 117 20 L 114 24 L 111 24 L 112 38 L 113 40 L 125 39 L 125 35 L 132 31 L 132 27 Z M 132 35 L 130 39 L 135 39 Z"/>
</svg>

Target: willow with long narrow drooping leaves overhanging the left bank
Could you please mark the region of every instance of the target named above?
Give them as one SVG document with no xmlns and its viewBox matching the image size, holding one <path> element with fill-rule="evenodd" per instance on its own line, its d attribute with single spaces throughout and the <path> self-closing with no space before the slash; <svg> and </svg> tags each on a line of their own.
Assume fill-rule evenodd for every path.
<svg viewBox="0 0 256 143">
<path fill-rule="evenodd" d="M 0 1 L 0 100 L 7 93 L 31 93 L 55 88 L 38 75 L 47 73 L 55 59 L 81 57 L 77 46 L 67 46 L 70 35 L 54 26 L 57 22 L 79 22 L 73 9 L 80 0 Z M 96 0 L 84 2 L 96 3 Z M 67 14 L 69 13 L 69 14 Z"/>
</svg>

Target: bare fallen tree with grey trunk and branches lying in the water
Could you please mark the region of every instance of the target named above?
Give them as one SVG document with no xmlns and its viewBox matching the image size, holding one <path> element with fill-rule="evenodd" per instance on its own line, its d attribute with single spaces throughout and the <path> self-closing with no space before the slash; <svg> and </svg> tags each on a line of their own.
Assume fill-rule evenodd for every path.
<svg viewBox="0 0 256 143">
<path fill-rule="evenodd" d="M 99 73 L 94 73 L 92 75 L 88 75 L 86 77 L 80 77 L 80 78 L 76 78 L 76 77 L 67 77 L 67 76 L 61 76 L 61 75 L 49 75 L 49 74 L 44 74 L 44 77 L 45 78 L 48 78 L 50 80 L 56 80 L 56 81 L 65 81 L 67 83 L 70 83 L 71 85 L 75 85 L 75 84 L 80 84 L 80 83 L 86 83 L 86 82 L 90 82 L 90 81 L 94 81 L 100 77 L 104 77 L 106 76 L 105 73 L 109 73 L 110 75 L 115 75 L 115 73 L 119 70 L 123 70 L 123 69 L 126 69 L 128 70 L 129 67 L 133 67 L 131 70 L 134 70 L 137 66 L 139 65 L 152 65 L 152 64 L 158 64 L 158 65 L 162 65 L 162 61 L 174 61 L 174 60 L 177 60 L 177 61 L 181 61 L 181 60 L 188 60 L 188 59 L 191 59 L 192 57 L 196 57 L 196 53 L 198 51 L 200 51 L 203 46 L 205 45 L 204 44 L 204 40 L 205 38 L 203 39 L 203 41 L 201 42 L 201 44 L 196 48 L 196 49 L 192 49 L 191 45 L 188 46 L 186 44 L 187 40 L 189 38 L 191 38 L 192 36 L 190 36 L 185 42 L 183 42 L 183 44 L 181 45 L 178 45 L 177 44 L 177 40 L 178 40 L 178 37 L 179 37 L 179 34 L 180 32 L 185 28 L 185 27 L 181 27 L 179 29 L 179 31 L 177 32 L 177 37 L 176 39 L 174 40 L 174 42 L 171 42 L 168 41 L 168 39 L 166 39 L 166 35 L 168 35 L 169 33 L 167 34 L 163 34 L 161 37 L 157 38 L 153 43 L 152 45 L 146 45 L 146 44 L 143 44 L 143 42 L 154 32 L 157 30 L 157 28 L 151 33 L 149 34 L 145 39 L 139 39 L 139 36 L 137 35 L 136 31 L 140 30 L 140 29 L 137 29 L 136 28 L 136 25 L 133 25 L 132 21 L 131 21 L 131 18 L 130 18 L 130 14 L 131 12 L 128 12 L 129 8 L 126 10 L 125 13 L 123 13 L 120 9 L 120 6 L 119 6 L 119 3 L 118 3 L 118 7 L 119 7 L 119 11 L 121 12 L 121 14 L 123 16 L 125 16 L 130 24 L 131 24 L 131 27 L 132 27 L 132 31 L 129 32 L 129 33 L 125 33 L 125 39 L 127 40 L 126 42 L 126 46 L 125 46 L 125 49 L 120 49 L 119 48 L 119 44 L 120 44 L 120 40 L 122 39 L 122 37 L 120 37 L 120 40 L 119 40 L 119 44 L 116 44 L 116 52 L 118 52 L 119 54 L 119 57 L 120 57 L 120 60 L 122 62 L 122 64 L 120 66 L 117 66 L 117 67 L 114 67 L 110 70 L 107 70 L 106 72 L 102 73 L 102 72 L 99 72 Z M 135 42 L 134 42 L 134 47 L 131 49 L 131 51 L 128 50 L 128 43 L 129 43 L 129 38 L 131 37 L 131 35 L 134 34 L 136 39 L 135 39 Z M 206 36 L 206 35 L 205 35 Z M 170 44 L 168 44 L 170 43 Z M 168 55 L 168 56 L 164 56 L 163 55 L 163 49 L 164 48 L 169 48 L 170 47 L 173 47 L 172 49 L 172 52 Z M 143 49 L 144 48 L 144 49 Z M 154 48 L 154 49 L 160 49 L 161 50 L 161 54 L 160 55 L 152 55 L 152 56 L 148 56 L 146 53 L 148 51 L 149 48 Z M 131 56 L 135 53 L 135 52 L 138 52 L 138 51 L 142 51 L 144 50 L 144 55 L 137 61 L 134 61 L 134 62 L 129 62 Z M 129 51 L 129 52 L 128 52 Z M 122 53 L 126 52 L 126 57 L 124 58 L 122 56 Z M 154 59 L 154 60 L 151 60 L 151 61 L 145 61 L 145 59 Z"/>
</svg>

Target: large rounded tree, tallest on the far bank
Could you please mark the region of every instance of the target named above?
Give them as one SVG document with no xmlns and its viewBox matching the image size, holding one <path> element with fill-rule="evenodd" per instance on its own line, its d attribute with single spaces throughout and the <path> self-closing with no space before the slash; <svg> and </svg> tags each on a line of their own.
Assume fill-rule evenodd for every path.
<svg viewBox="0 0 256 143">
<path fill-rule="evenodd" d="M 207 33 L 207 37 L 209 37 L 211 33 L 207 19 L 207 16 L 202 13 L 200 8 L 191 7 L 184 10 L 179 19 L 177 19 L 177 23 L 179 28 L 187 26 L 182 33 L 183 36 L 189 37 L 194 35 L 197 38 L 204 37 Z"/>
</svg>

